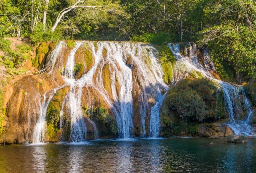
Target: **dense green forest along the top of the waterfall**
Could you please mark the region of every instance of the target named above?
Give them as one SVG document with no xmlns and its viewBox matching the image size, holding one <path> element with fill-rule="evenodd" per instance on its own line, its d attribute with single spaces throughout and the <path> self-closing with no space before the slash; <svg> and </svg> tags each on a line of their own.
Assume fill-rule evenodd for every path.
<svg viewBox="0 0 256 173">
<path fill-rule="evenodd" d="M 256 79 L 255 27 L 253 0 L 1 0 L 0 3 L 0 49 L 8 45 L 4 37 L 27 37 L 31 44 L 61 39 L 142 41 L 156 45 L 193 41 L 211 50 L 215 64 L 225 61 L 239 83 Z M 9 56 L 2 57 L 5 65 L 19 65 L 12 57 L 15 55 Z"/>
</svg>

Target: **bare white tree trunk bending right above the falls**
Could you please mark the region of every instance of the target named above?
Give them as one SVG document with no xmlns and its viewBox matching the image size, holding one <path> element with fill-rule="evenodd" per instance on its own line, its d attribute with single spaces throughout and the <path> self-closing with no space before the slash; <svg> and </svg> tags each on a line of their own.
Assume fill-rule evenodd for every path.
<svg viewBox="0 0 256 173">
<path fill-rule="evenodd" d="M 86 5 L 77 5 L 79 3 L 83 3 L 84 1 L 77 1 L 75 4 L 73 4 L 72 6 L 70 7 L 67 7 L 65 9 L 63 9 L 62 11 L 60 11 L 54 25 L 52 26 L 52 32 L 55 31 L 56 27 L 58 26 L 58 23 L 60 22 L 61 18 L 66 14 L 68 13 L 69 11 L 77 8 L 77 7 L 80 7 L 80 8 L 93 8 L 93 9 L 97 9 L 98 7 L 103 7 L 103 6 L 86 6 Z"/>
</svg>

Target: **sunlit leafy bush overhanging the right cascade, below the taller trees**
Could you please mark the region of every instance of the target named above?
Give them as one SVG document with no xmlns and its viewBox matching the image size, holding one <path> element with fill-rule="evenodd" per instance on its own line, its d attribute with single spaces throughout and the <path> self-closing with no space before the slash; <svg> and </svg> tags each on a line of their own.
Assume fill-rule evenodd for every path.
<svg viewBox="0 0 256 173">
<path fill-rule="evenodd" d="M 228 62 L 239 82 L 256 79 L 256 31 L 250 27 L 229 24 L 213 26 L 200 32 L 199 45 L 206 45 L 216 62 Z M 224 64 L 223 70 L 226 70 Z M 219 70 L 219 69 L 217 69 Z"/>
</svg>

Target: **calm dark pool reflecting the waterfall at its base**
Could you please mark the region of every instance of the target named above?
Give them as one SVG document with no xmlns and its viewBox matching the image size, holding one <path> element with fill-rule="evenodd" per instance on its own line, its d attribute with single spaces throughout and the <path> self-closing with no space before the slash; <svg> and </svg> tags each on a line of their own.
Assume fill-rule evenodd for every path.
<svg viewBox="0 0 256 173">
<path fill-rule="evenodd" d="M 255 147 L 205 138 L 7 145 L 0 172 L 256 172 Z"/>
</svg>

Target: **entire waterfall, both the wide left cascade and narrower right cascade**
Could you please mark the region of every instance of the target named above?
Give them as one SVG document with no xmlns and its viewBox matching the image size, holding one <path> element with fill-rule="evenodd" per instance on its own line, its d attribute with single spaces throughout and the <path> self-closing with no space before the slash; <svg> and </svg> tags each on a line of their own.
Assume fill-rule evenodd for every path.
<svg viewBox="0 0 256 173">
<path fill-rule="evenodd" d="M 244 88 L 212 76 L 216 69 L 208 50 L 204 49 L 203 63 L 200 64 L 196 44 L 185 44 L 184 55 L 179 46 L 169 44 L 176 57 L 170 85 L 175 86 L 191 74 L 215 81 L 224 93 L 229 115 L 227 125 L 235 134 L 251 135 L 252 109 Z M 159 111 L 169 89 L 162 78 L 159 57 L 153 46 L 142 43 L 76 41 L 70 48 L 65 41 L 60 41 L 47 57 L 45 67 L 46 75 L 54 81 L 56 88 L 44 93 L 32 142 L 44 142 L 47 108 L 58 91 L 65 87 L 68 91 L 60 103 L 59 128 L 70 127 L 69 139 L 72 141 L 87 139 L 88 124 L 97 138 L 97 122 L 93 122 L 92 115 L 85 114 L 83 107 L 93 110 L 99 105 L 108 108 L 115 118 L 119 138 L 133 136 L 134 115 L 140 115 L 141 137 L 146 137 L 147 132 L 149 137 L 158 137 L 161 130 Z M 78 70 L 82 69 L 79 73 L 76 71 L 78 65 Z M 238 120 L 244 109 L 248 113 L 246 120 Z"/>
</svg>

